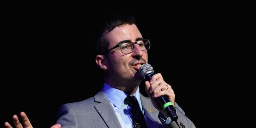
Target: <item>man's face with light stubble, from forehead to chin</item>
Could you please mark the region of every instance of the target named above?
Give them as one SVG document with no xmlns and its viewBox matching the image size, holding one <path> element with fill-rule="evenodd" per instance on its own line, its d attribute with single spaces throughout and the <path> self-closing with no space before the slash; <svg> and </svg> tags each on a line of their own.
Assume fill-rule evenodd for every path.
<svg viewBox="0 0 256 128">
<path fill-rule="evenodd" d="M 135 24 L 116 27 L 106 34 L 106 38 L 110 43 L 108 49 L 125 40 L 136 42 L 143 39 Z M 106 66 L 110 76 L 119 79 L 142 79 L 139 76 L 139 68 L 142 64 L 148 63 L 148 52 L 146 50 L 141 51 L 138 44 L 134 45 L 132 53 L 122 53 L 117 47 L 107 54 Z"/>
</svg>

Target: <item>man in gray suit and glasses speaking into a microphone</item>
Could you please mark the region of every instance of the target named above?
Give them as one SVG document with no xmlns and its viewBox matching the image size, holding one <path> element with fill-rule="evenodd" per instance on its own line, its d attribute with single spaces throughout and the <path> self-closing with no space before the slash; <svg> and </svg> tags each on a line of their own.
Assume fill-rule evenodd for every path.
<svg viewBox="0 0 256 128">
<path fill-rule="evenodd" d="M 150 82 L 145 82 L 149 97 L 139 92 L 143 81 L 139 69 L 148 63 L 150 40 L 143 39 L 135 19 L 131 15 L 113 13 L 104 18 L 103 23 L 95 40 L 95 61 L 104 71 L 104 86 L 94 97 L 62 105 L 56 124 L 63 128 L 132 128 L 135 126 L 130 113 L 132 107 L 125 101 L 127 96 L 132 95 L 138 100 L 146 121 L 146 125 L 141 127 L 195 128 L 174 101 L 174 91 L 160 73 L 153 75 Z M 170 122 L 157 100 L 160 96 L 171 101 L 176 109 L 177 121 Z"/>
</svg>

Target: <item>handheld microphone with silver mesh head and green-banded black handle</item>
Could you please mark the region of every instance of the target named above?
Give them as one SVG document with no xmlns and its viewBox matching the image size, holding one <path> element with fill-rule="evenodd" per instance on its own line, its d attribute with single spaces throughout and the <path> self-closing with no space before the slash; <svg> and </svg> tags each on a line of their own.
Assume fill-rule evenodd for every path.
<svg viewBox="0 0 256 128">
<path fill-rule="evenodd" d="M 150 64 L 142 64 L 139 68 L 139 75 L 146 81 L 150 81 L 151 77 L 154 75 L 154 69 Z M 170 102 L 170 100 L 165 96 L 157 97 L 157 99 L 161 106 L 163 106 L 163 110 L 172 119 L 172 121 L 176 121 L 178 116 L 175 108 L 172 106 L 172 102 Z"/>
</svg>

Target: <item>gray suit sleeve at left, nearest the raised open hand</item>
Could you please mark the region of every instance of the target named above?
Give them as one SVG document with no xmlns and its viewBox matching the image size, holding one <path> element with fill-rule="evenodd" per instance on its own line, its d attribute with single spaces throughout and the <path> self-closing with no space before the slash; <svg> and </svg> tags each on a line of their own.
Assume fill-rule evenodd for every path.
<svg viewBox="0 0 256 128">
<path fill-rule="evenodd" d="M 78 128 L 77 118 L 69 104 L 64 104 L 60 107 L 56 124 L 60 124 L 62 128 Z"/>
</svg>

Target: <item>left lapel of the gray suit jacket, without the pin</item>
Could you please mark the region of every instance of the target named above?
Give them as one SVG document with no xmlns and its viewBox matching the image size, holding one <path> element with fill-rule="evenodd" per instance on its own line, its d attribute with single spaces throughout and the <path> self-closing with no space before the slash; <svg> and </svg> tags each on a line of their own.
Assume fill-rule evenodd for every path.
<svg viewBox="0 0 256 128">
<path fill-rule="evenodd" d="M 95 109 L 106 122 L 107 126 L 110 128 L 121 128 L 121 124 L 115 114 L 115 111 L 104 92 L 97 93 L 94 98 L 95 102 L 99 102 L 99 104 L 95 105 Z"/>
</svg>

